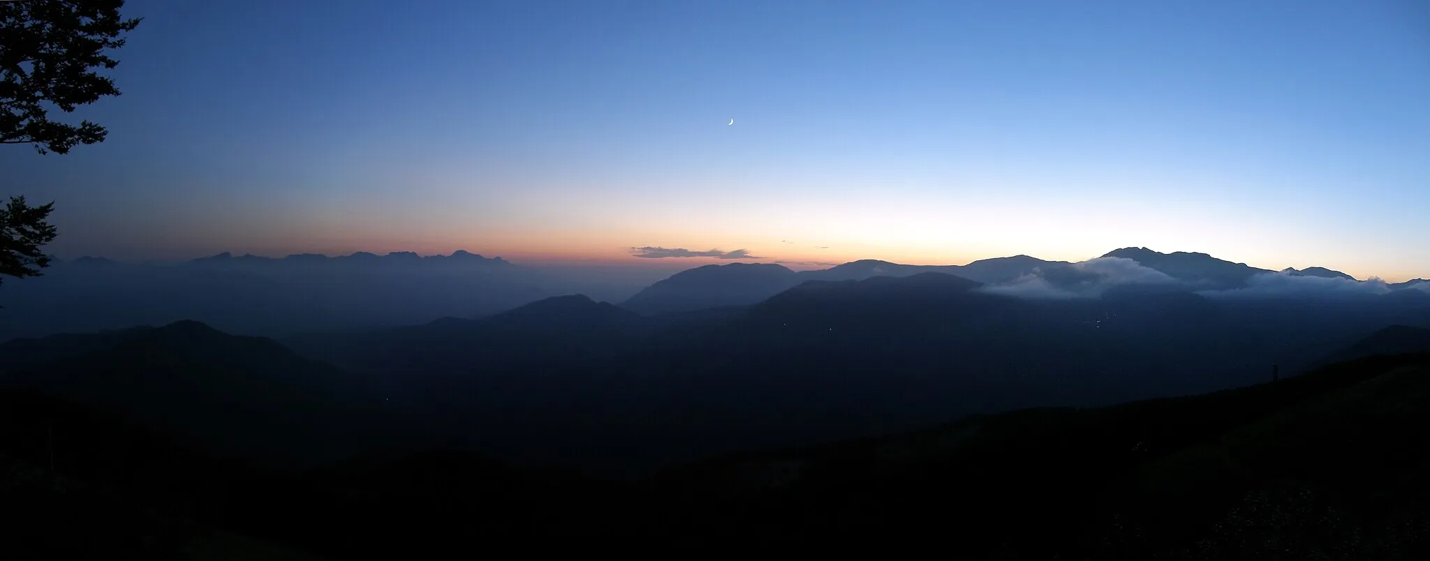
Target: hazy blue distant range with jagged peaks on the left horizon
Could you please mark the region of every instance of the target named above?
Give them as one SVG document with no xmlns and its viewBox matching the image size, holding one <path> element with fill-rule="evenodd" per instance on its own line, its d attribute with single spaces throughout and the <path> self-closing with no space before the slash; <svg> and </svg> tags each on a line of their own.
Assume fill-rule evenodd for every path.
<svg viewBox="0 0 1430 561">
<path fill-rule="evenodd" d="M 172 266 L 83 257 L 6 283 L 0 341 L 179 320 L 270 337 L 368 330 L 488 315 L 561 294 L 623 300 L 661 274 L 525 267 L 468 251 L 285 258 L 222 253 Z"/>
</svg>

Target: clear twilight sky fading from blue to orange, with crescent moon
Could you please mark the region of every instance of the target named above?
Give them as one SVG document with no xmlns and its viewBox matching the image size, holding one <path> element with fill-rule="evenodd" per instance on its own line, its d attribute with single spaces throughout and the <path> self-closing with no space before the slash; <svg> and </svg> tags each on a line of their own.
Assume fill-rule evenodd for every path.
<svg viewBox="0 0 1430 561">
<path fill-rule="evenodd" d="M 1426 1 L 124 14 L 144 21 L 109 73 L 123 96 L 70 116 L 107 141 L 0 147 L 0 194 L 56 201 L 60 257 L 808 268 L 1135 246 L 1430 278 Z"/>
</svg>

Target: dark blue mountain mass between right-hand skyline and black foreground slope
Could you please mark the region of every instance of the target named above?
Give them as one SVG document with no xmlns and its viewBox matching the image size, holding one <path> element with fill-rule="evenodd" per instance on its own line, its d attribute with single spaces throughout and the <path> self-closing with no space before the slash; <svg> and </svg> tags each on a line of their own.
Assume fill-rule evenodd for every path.
<svg viewBox="0 0 1430 561">
<path fill-rule="evenodd" d="M 283 343 L 383 380 L 433 427 L 506 427 L 453 435 L 479 450 L 639 471 L 970 413 L 1237 387 L 1386 325 L 1430 327 L 1420 291 L 1141 251 L 1120 253 L 1164 270 L 1113 256 L 1018 258 L 980 283 L 881 261 L 709 266 L 619 307 L 556 297 Z M 642 421 L 652 418 L 662 423 Z"/>
</svg>

